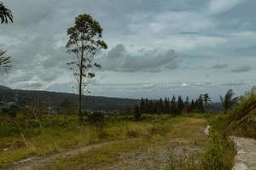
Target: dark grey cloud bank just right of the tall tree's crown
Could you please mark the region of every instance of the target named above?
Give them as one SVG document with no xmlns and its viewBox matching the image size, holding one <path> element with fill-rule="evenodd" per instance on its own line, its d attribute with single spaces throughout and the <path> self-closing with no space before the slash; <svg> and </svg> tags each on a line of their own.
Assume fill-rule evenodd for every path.
<svg viewBox="0 0 256 170">
<path fill-rule="evenodd" d="M 157 50 L 139 50 L 139 54 L 131 54 L 126 51 L 123 44 L 111 49 L 103 55 L 99 62 L 103 65 L 103 71 L 127 71 L 127 72 L 158 72 L 164 69 L 177 69 L 181 62 L 174 50 L 168 50 L 165 54 L 157 54 Z"/>
</svg>

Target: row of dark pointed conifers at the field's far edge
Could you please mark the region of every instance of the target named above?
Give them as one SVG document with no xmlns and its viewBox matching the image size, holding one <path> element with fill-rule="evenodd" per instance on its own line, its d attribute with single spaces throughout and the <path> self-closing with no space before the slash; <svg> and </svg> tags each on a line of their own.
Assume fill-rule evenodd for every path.
<svg viewBox="0 0 256 170">
<path fill-rule="evenodd" d="M 201 94 L 197 99 L 189 100 L 189 97 L 183 99 L 182 96 L 175 96 L 172 99 L 159 99 L 159 100 L 149 100 L 141 99 L 139 105 L 135 105 L 132 110 L 133 113 L 141 114 L 169 114 L 177 116 L 182 113 L 204 113 L 206 112 L 206 106 L 211 102 L 208 94 Z M 129 108 L 127 110 L 129 111 Z"/>
</svg>

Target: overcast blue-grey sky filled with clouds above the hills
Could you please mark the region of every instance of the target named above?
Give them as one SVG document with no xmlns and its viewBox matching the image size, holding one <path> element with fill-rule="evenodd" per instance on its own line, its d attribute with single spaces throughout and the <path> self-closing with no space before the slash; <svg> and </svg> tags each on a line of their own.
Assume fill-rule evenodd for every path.
<svg viewBox="0 0 256 170">
<path fill-rule="evenodd" d="M 15 23 L 0 26 L 13 68 L 10 88 L 75 92 L 66 63 L 67 28 L 91 14 L 108 50 L 90 95 L 150 99 L 256 85 L 254 0 L 3 0 Z"/>
</svg>

